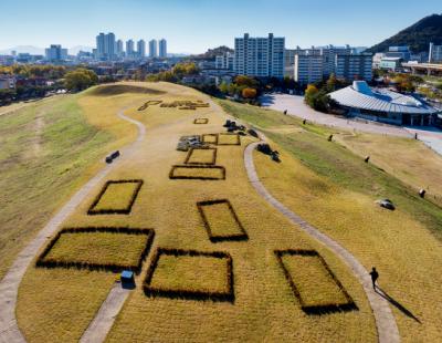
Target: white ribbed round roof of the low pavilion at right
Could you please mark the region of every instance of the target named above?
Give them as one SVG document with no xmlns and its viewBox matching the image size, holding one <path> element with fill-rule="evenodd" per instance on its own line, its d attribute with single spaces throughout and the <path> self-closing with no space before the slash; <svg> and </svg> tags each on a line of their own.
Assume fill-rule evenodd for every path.
<svg viewBox="0 0 442 343">
<path fill-rule="evenodd" d="M 373 112 L 427 115 L 440 112 L 413 96 L 371 89 L 365 81 L 355 81 L 352 85 L 328 95 L 341 106 Z"/>
</svg>

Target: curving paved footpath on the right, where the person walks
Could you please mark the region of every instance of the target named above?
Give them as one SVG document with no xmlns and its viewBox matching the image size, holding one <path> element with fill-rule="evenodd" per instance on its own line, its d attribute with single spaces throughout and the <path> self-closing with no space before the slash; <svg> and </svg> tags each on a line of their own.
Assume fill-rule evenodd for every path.
<svg viewBox="0 0 442 343">
<path fill-rule="evenodd" d="M 261 139 L 263 136 L 261 135 Z M 260 143 L 250 144 L 244 152 L 244 164 L 248 172 L 249 180 L 255 190 L 274 208 L 282 212 L 290 221 L 301 227 L 311 237 L 315 238 L 328 249 L 330 249 L 336 256 L 338 256 L 354 272 L 355 277 L 362 284 L 364 291 L 368 298 L 371 310 L 375 314 L 376 329 L 378 331 L 379 343 L 398 343 L 400 342 L 398 326 L 393 314 L 391 313 L 388 301 L 377 294 L 371 287 L 371 278 L 364 266 L 343 246 L 334 241 L 328 236 L 320 232 L 315 227 L 311 226 L 299 216 L 286 208 L 282 202 L 276 200 L 257 177 L 256 169 L 253 163 L 253 150 Z"/>
</svg>

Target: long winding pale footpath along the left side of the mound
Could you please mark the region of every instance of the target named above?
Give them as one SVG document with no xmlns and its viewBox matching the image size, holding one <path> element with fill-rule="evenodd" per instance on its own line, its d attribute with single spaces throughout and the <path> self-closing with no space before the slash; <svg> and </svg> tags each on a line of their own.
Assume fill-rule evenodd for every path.
<svg viewBox="0 0 442 343">
<path fill-rule="evenodd" d="M 134 121 L 123 113 L 126 108 L 120 110 L 117 115 L 125 121 L 128 121 L 138 127 L 137 139 L 123 148 L 122 156 L 112 163 L 106 165 L 102 170 L 98 172 L 87 184 L 85 184 L 72 198 L 63 206 L 63 208 L 46 224 L 46 226 L 36 235 L 36 237 L 20 252 L 17 260 L 0 281 L 0 342 L 1 343 L 23 343 L 25 339 L 20 332 L 15 319 L 15 305 L 17 297 L 19 292 L 20 282 L 41 248 L 51 239 L 62 222 L 71 216 L 77 206 L 83 202 L 91 190 L 96 187 L 112 169 L 115 168 L 138 148 L 138 145 L 144 141 L 146 135 L 145 126 Z M 107 332 L 106 332 L 107 333 Z"/>
</svg>

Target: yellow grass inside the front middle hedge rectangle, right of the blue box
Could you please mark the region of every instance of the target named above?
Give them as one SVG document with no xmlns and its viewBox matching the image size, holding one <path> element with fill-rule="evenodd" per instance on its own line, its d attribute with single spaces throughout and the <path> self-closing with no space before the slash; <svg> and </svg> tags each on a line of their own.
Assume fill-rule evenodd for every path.
<svg viewBox="0 0 442 343">
<path fill-rule="evenodd" d="M 150 285 L 176 291 L 225 292 L 227 272 L 224 259 L 161 254 Z"/>
</svg>

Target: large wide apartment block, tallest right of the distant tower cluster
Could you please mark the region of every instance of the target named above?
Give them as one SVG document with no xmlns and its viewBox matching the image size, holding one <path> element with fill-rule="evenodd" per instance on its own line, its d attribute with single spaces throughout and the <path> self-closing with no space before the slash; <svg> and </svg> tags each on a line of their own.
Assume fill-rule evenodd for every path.
<svg viewBox="0 0 442 343">
<path fill-rule="evenodd" d="M 251 38 L 245 33 L 234 41 L 234 72 L 257 77 L 284 76 L 285 38 Z"/>
</svg>

